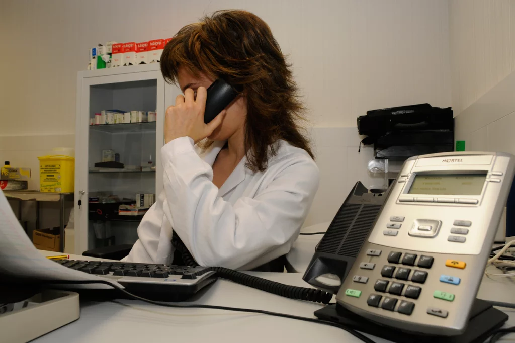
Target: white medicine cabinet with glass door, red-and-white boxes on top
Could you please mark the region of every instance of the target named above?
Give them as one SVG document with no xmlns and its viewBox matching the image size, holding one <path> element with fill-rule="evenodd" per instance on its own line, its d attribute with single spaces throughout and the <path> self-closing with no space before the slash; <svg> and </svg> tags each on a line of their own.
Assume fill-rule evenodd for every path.
<svg viewBox="0 0 515 343">
<path fill-rule="evenodd" d="M 164 81 L 159 63 L 78 73 L 76 254 L 138 239 L 136 229 L 152 195 L 157 198 L 163 188 L 164 114 L 179 93 Z M 112 123 L 106 116 L 116 110 L 121 122 L 104 124 Z M 129 123 L 123 116 L 131 111 Z M 96 113 L 102 113 L 100 122 Z"/>
</svg>

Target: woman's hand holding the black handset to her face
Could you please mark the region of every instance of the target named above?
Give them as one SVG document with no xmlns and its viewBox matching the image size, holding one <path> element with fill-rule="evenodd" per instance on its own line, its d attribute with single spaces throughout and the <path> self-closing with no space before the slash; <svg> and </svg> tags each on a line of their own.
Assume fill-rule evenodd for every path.
<svg viewBox="0 0 515 343">
<path fill-rule="evenodd" d="M 226 110 L 220 112 L 210 123 L 204 123 L 207 95 L 205 88 L 199 87 L 196 98 L 191 88 L 184 91 L 184 96 L 182 94 L 177 96 L 175 106 L 166 109 L 164 119 L 165 143 L 188 136 L 197 144 L 204 138 L 209 137 L 221 124 Z"/>
</svg>

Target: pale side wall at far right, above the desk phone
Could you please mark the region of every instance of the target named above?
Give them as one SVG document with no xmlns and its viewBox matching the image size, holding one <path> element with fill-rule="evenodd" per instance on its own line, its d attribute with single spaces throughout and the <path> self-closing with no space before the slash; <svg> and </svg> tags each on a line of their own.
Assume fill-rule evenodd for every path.
<svg viewBox="0 0 515 343">
<path fill-rule="evenodd" d="M 449 3 L 455 138 L 515 153 L 515 1 Z"/>
</svg>

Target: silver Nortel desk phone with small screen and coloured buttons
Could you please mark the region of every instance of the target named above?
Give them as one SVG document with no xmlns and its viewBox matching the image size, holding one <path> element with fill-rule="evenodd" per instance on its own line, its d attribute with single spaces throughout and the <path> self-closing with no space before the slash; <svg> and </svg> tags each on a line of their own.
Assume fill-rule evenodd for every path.
<svg viewBox="0 0 515 343">
<path fill-rule="evenodd" d="M 355 260 L 343 268 L 337 303 L 395 329 L 442 336 L 464 333 L 514 167 L 513 157 L 505 153 L 451 152 L 408 159 L 385 194 L 381 211 L 374 213 L 375 222 L 356 249 L 359 253 L 346 257 Z M 341 235 L 335 256 L 345 250 L 346 240 L 356 240 L 352 236 L 360 229 L 352 228 L 358 214 L 347 224 L 341 224 L 341 218 L 338 225 L 349 229 Z M 324 238 L 317 250 L 334 243 Z M 310 268 L 318 263 L 318 275 L 330 277 L 327 285 L 321 285 L 323 278 L 315 280 L 310 268 L 304 280 L 331 291 L 334 261 L 324 258 L 314 256 Z"/>
</svg>

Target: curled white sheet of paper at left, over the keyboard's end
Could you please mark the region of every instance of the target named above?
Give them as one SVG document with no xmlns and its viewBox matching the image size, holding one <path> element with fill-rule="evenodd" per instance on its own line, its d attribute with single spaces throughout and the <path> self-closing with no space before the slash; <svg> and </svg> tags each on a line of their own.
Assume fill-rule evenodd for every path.
<svg viewBox="0 0 515 343">
<path fill-rule="evenodd" d="M 2 191 L 0 191 L 0 274 L 38 280 L 106 280 L 123 288 L 116 281 L 70 269 L 45 258 L 30 242 Z M 111 288 L 102 284 L 63 285 L 63 287 Z"/>
</svg>

